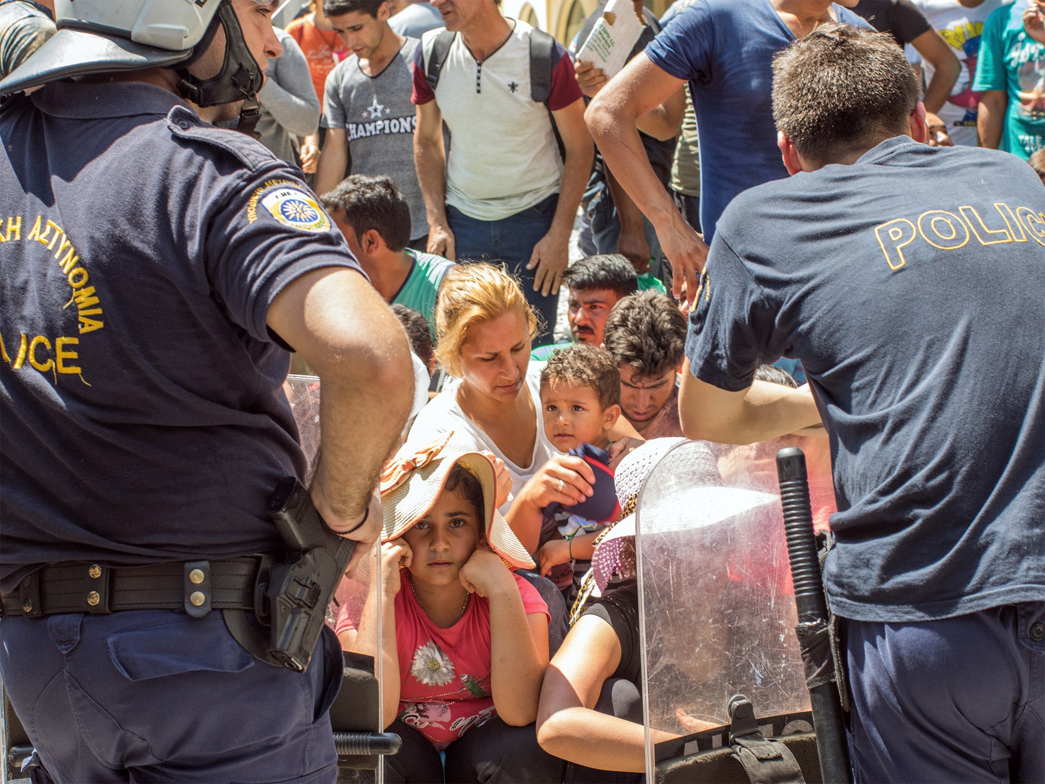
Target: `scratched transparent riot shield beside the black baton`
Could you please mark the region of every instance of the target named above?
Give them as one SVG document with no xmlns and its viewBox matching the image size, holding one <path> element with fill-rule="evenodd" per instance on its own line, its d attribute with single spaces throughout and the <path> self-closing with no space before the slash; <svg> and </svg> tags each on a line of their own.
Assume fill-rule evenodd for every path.
<svg viewBox="0 0 1045 784">
<path fill-rule="evenodd" d="M 834 511 L 826 439 L 745 446 L 687 441 L 651 471 L 636 508 L 647 781 L 667 738 L 810 710 L 774 458 L 806 449 L 814 518 Z M 718 741 L 721 743 L 721 740 Z"/>
</svg>

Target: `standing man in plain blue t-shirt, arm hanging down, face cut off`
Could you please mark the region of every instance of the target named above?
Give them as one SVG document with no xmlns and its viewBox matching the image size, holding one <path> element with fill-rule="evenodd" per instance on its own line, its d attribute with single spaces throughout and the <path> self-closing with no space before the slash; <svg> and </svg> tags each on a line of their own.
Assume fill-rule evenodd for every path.
<svg viewBox="0 0 1045 784">
<path fill-rule="evenodd" d="M 697 0 L 676 16 L 588 107 L 585 119 L 619 182 L 656 228 L 692 305 L 715 224 L 735 195 L 787 177 L 771 106 L 773 55 L 817 25 L 867 27 L 856 0 Z M 846 6 L 846 7 L 842 7 Z M 686 223 L 649 164 L 635 119 L 689 82 L 700 133 L 704 237 Z"/>
</svg>

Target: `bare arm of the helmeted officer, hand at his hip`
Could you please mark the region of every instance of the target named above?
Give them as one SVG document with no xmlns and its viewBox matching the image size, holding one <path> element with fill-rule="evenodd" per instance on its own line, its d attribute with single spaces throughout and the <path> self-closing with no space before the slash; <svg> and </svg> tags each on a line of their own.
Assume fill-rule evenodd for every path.
<svg viewBox="0 0 1045 784">
<path fill-rule="evenodd" d="M 395 315 L 353 270 L 323 268 L 288 283 L 265 319 L 322 379 L 322 447 L 310 488 L 334 530 L 363 517 L 381 464 L 399 445 L 414 398 L 407 335 Z M 351 537 L 372 541 L 380 515 Z"/>
</svg>

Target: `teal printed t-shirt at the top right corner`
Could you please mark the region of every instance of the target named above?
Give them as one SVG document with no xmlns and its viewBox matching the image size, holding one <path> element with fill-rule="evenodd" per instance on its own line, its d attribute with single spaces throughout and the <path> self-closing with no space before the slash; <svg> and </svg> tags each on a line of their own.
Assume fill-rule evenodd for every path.
<svg viewBox="0 0 1045 784">
<path fill-rule="evenodd" d="M 999 147 L 1023 160 L 1045 147 L 1045 46 L 1023 29 L 1026 0 L 988 17 L 980 39 L 973 90 L 1004 90 L 1008 96 Z"/>
</svg>

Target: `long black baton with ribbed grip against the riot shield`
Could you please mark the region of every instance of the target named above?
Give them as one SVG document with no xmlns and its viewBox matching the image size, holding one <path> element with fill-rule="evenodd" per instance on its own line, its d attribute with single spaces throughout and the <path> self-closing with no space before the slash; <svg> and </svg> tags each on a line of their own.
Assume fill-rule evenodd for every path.
<svg viewBox="0 0 1045 784">
<path fill-rule="evenodd" d="M 828 633 L 828 602 L 823 596 L 820 561 L 813 533 L 806 456 L 789 446 L 776 453 L 776 476 L 784 504 L 784 531 L 798 609 L 798 644 L 806 666 L 806 686 L 813 708 L 816 752 L 825 784 L 851 784 L 849 746 L 842 706 L 835 683 L 835 662 Z"/>
</svg>

